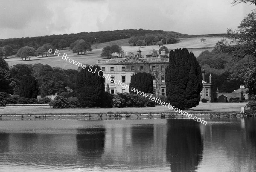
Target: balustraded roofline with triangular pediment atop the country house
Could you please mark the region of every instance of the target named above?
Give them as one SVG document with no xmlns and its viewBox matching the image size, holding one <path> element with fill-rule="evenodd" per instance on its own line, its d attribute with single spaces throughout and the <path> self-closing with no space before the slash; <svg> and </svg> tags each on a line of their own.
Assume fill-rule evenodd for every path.
<svg viewBox="0 0 256 172">
<path fill-rule="evenodd" d="M 120 59 L 96 60 L 96 65 L 100 64 L 127 64 L 127 63 L 169 63 L 169 58 L 138 58 L 129 56 Z"/>
</svg>

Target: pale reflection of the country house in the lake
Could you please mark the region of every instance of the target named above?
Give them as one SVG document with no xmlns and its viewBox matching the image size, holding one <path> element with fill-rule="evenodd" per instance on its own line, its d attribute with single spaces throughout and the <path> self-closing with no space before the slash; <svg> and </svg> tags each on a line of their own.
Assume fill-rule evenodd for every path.
<svg viewBox="0 0 256 172">
<path fill-rule="evenodd" d="M 148 167 L 149 164 L 162 167 L 166 162 L 166 120 L 143 125 L 140 121 L 133 120 L 133 125 L 126 121 L 114 121 L 114 127 L 109 121 L 105 123 L 106 140 L 102 163 L 111 165 L 118 161 L 136 168 Z M 138 125 L 134 124 L 136 122 Z"/>
</svg>

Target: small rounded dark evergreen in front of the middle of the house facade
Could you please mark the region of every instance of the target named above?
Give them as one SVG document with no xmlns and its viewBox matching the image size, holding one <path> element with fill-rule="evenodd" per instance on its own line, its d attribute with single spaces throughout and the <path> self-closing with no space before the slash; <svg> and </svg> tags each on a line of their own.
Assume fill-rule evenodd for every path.
<svg viewBox="0 0 256 172">
<path fill-rule="evenodd" d="M 131 91 L 131 88 L 135 88 L 138 91 L 144 93 L 153 93 L 153 77 L 150 73 L 140 72 L 131 76 L 131 83 L 129 86 L 129 92 L 135 93 Z M 137 92 L 136 92 L 137 93 Z"/>
</svg>

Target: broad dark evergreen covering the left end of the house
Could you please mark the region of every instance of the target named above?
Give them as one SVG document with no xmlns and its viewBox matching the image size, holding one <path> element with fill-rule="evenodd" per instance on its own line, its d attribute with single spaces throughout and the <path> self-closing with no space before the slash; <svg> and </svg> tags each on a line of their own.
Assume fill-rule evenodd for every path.
<svg viewBox="0 0 256 172">
<path fill-rule="evenodd" d="M 99 70 L 101 70 L 99 66 L 87 67 L 81 69 L 76 77 L 77 98 L 81 107 L 101 106 L 100 100 L 105 92 L 105 86 L 103 77 L 99 77 L 103 75 L 102 71 L 98 75 Z"/>
</svg>

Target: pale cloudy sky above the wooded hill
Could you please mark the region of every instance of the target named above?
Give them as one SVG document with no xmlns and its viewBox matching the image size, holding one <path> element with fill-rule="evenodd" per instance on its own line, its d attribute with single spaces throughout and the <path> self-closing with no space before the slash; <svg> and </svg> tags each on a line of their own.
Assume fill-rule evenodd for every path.
<svg viewBox="0 0 256 172">
<path fill-rule="evenodd" d="M 232 0 L 0 0 L 0 39 L 151 29 L 226 33 L 256 6 Z"/>
</svg>

